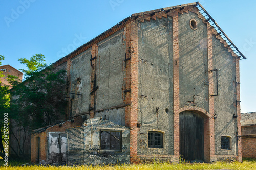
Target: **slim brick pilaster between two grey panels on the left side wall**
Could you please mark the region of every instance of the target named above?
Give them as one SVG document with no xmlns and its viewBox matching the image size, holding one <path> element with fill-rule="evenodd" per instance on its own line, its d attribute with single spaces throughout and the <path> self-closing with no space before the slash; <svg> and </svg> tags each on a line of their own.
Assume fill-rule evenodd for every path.
<svg viewBox="0 0 256 170">
<path fill-rule="evenodd" d="M 94 81 L 96 81 L 95 80 L 95 73 L 96 73 L 96 60 L 97 60 L 97 51 L 98 51 L 98 46 L 97 46 L 97 44 L 93 44 L 93 46 L 92 46 L 92 50 L 91 50 L 91 57 L 92 57 L 92 59 L 94 58 L 94 57 L 96 57 L 96 59 L 94 59 L 94 60 L 92 60 L 91 61 L 91 67 L 92 67 L 92 69 L 91 69 L 91 92 L 93 92 L 93 90 L 94 90 Z M 89 110 L 90 110 L 90 118 L 94 118 L 94 112 L 95 112 L 95 107 L 94 107 L 94 105 L 95 105 L 95 91 L 93 92 L 93 93 L 91 93 L 91 99 L 90 99 L 90 106 L 91 106 L 91 108 L 89 108 Z"/>
</svg>

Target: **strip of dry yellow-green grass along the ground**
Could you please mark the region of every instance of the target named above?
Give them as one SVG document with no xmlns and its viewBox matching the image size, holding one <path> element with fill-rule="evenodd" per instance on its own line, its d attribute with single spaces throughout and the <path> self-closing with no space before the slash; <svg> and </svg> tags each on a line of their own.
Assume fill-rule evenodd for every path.
<svg viewBox="0 0 256 170">
<path fill-rule="evenodd" d="M 51 170 L 57 170 L 57 169 L 81 169 L 81 170 L 97 170 L 97 169 L 105 169 L 105 170 L 112 170 L 112 169 L 145 169 L 145 170 L 151 170 L 151 169 L 256 169 L 256 160 L 255 159 L 246 159 L 243 161 L 243 163 L 240 162 L 230 162 L 230 163 L 223 163 L 223 162 L 217 162 L 217 163 L 195 163 L 195 164 L 189 164 L 189 163 L 183 163 L 183 164 L 172 164 L 172 163 L 154 163 L 154 164 L 140 164 L 140 165 L 114 165 L 114 166 L 38 166 L 38 165 L 31 165 L 31 166 L 12 166 L 9 167 L 0 167 L 0 169 L 51 169 Z"/>
</svg>

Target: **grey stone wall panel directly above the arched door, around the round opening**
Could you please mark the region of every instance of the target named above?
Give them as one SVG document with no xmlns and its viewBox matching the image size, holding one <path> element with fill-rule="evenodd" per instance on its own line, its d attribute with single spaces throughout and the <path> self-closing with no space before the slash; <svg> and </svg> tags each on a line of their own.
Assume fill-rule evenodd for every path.
<svg viewBox="0 0 256 170">
<path fill-rule="evenodd" d="M 195 19 L 197 29 L 190 28 Z M 180 108 L 198 106 L 209 112 L 207 27 L 198 15 L 179 14 Z"/>
</svg>

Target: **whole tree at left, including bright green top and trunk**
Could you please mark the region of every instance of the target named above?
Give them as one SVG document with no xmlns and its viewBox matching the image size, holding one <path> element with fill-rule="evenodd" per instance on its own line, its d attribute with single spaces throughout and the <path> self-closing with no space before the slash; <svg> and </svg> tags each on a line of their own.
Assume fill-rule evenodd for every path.
<svg viewBox="0 0 256 170">
<path fill-rule="evenodd" d="M 30 60 L 18 60 L 27 66 L 27 69 L 21 69 L 26 80 L 19 83 L 15 77 L 9 77 L 13 86 L 10 90 L 10 116 L 23 129 L 23 141 L 14 135 L 11 128 L 10 131 L 17 140 L 20 153 L 24 154 L 27 134 L 31 130 L 55 123 L 65 113 L 66 71 L 54 71 L 53 67 L 44 63 L 45 56 L 42 54 L 35 54 Z"/>
</svg>

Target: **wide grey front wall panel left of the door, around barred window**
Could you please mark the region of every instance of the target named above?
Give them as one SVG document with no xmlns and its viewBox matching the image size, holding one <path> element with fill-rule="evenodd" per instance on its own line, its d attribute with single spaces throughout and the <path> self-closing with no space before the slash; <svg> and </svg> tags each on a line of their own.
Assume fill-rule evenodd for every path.
<svg viewBox="0 0 256 170">
<path fill-rule="evenodd" d="M 172 26 L 171 17 L 138 23 L 139 155 L 173 155 L 174 152 Z M 164 133 L 164 148 L 147 147 L 147 133 L 151 130 Z"/>
</svg>

